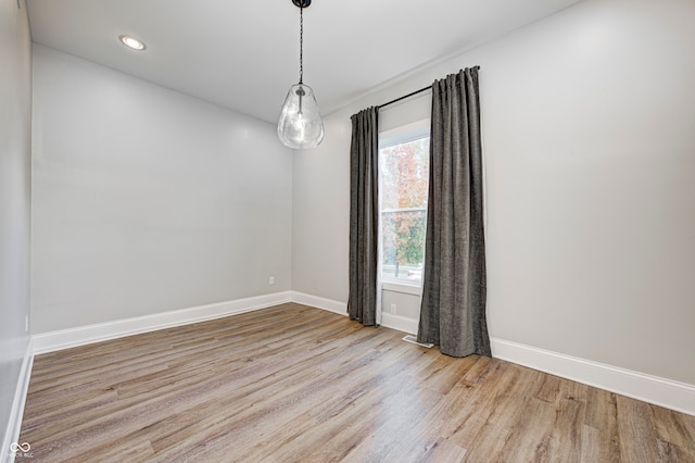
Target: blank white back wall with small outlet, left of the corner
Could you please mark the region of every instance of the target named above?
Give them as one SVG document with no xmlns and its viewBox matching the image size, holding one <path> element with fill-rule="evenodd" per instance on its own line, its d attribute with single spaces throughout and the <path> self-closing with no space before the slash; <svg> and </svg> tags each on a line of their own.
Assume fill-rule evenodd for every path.
<svg viewBox="0 0 695 463">
<path fill-rule="evenodd" d="M 291 287 L 270 124 L 35 45 L 33 162 L 34 334 Z"/>
</svg>

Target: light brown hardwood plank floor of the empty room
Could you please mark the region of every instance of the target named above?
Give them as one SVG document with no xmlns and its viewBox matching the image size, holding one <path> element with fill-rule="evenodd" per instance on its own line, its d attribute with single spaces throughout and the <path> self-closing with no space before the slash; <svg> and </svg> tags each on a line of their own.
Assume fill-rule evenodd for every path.
<svg viewBox="0 0 695 463">
<path fill-rule="evenodd" d="M 695 417 L 283 304 L 36 358 L 46 462 L 695 462 Z"/>
</svg>

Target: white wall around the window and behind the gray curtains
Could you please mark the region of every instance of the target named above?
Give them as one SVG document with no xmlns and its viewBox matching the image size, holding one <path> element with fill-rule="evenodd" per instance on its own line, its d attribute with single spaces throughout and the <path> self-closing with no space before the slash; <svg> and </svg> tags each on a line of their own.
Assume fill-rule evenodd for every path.
<svg viewBox="0 0 695 463">
<path fill-rule="evenodd" d="M 693 17 L 581 2 L 330 114 L 294 154 L 293 289 L 348 300 L 350 115 L 478 64 L 491 336 L 695 385 Z"/>
</svg>

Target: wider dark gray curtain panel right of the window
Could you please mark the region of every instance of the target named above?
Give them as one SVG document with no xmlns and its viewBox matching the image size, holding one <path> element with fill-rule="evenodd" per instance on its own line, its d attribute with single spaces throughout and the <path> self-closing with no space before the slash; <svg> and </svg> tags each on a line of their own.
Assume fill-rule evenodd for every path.
<svg viewBox="0 0 695 463">
<path fill-rule="evenodd" d="M 417 339 L 453 356 L 491 355 L 480 139 L 478 68 L 434 82 Z"/>
</svg>

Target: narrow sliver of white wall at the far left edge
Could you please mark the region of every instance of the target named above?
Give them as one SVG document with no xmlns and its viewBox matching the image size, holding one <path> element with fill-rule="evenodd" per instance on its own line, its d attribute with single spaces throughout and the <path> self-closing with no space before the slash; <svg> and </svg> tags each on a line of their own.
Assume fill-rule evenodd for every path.
<svg viewBox="0 0 695 463">
<path fill-rule="evenodd" d="M 26 9 L 0 0 L 0 459 L 29 336 L 31 38 Z M 16 411 L 16 410 L 15 410 Z M 8 439 L 12 438 L 7 436 Z"/>
</svg>

